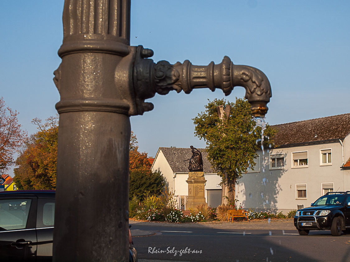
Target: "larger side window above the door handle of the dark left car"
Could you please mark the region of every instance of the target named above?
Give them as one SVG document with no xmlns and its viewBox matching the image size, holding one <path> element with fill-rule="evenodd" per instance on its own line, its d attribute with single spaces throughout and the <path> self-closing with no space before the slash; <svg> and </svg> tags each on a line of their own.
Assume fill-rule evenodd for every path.
<svg viewBox="0 0 350 262">
<path fill-rule="evenodd" d="M 0 230 L 26 228 L 30 204 L 31 199 L 1 199 Z"/>
</svg>

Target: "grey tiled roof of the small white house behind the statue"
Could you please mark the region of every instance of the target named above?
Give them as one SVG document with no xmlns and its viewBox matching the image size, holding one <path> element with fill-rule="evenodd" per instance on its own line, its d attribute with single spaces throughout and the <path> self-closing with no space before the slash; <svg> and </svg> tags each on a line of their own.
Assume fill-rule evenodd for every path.
<svg viewBox="0 0 350 262">
<path fill-rule="evenodd" d="M 208 161 L 208 154 L 205 148 L 197 148 L 202 153 L 204 173 L 216 173 Z M 187 173 L 188 162 L 184 161 L 192 157 L 191 148 L 160 147 L 174 173 Z"/>
</svg>

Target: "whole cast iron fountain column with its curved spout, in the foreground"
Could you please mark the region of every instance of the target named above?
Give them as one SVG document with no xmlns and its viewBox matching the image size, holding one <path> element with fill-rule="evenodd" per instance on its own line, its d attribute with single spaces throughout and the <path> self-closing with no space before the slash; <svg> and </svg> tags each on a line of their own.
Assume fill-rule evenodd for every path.
<svg viewBox="0 0 350 262">
<path fill-rule="evenodd" d="M 54 72 L 59 113 L 54 261 L 127 261 L 129 143 L 132 115 L 170 90 L 246 88 L 264 116 L 271 87 L 256 68 L 188 60 L 157 64 L 130 46 L 130 0 L 65 0 L 62 63 Z"/>
</svg>

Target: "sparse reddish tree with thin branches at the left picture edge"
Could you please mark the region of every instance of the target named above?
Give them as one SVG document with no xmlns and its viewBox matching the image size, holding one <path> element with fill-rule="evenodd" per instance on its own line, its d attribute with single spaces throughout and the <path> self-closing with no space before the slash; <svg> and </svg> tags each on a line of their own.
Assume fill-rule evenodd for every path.
<svg viewBox="0 0 350 262">
<path fill-rule="evenodd" d="M 3 97 L 0 98 L 0 169 L 7 170 L 13 163 L 17 152 L 27 136 L 18 123 L 18 112 L 6 107 Z"/>
</svg>

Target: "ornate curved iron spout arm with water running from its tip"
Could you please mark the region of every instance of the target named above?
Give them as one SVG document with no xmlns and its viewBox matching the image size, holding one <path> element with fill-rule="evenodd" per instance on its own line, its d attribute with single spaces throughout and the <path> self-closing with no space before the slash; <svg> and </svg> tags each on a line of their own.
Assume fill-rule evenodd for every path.
<svg viewBox="0 0 350 262">
<path fill-rule="evenodd" d="M 234 65 L 227 56 L 218 65 L 211 62 L 208 66 L 197 66 L 189 60 L 174 65 L 165 60 L 155 64 L 152 59 L 143 59 L 145 56 L 142 53 L 145 52 L 142 50 L 142 46 L 138 46 L 134 66 L 135 94 L 139 99 L 153 97 L 155 93 L 165 95 L 170 90 L 177 93 L 183 90 L 189 94 L 194 88 L 209 88 L 212 91 L 220 88 L 225 95 L 229 95 L 235 86 L 242 86 L 246 89 L 245 98 L 252 105 L 253 116 L 264 117 L 267 113 L 267 103 L 272 96 L 271 86 L 259 69 Z"/>
</svg>

